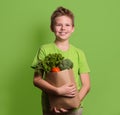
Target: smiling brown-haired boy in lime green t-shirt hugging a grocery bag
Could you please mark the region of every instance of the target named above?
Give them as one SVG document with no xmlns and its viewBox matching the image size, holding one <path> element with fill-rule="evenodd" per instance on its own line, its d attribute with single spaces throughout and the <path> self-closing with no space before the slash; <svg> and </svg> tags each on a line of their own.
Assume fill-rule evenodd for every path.
<svg viewBox="0 0 120 115">
<path fill-rule="evenodd" d="M 51 16 L 51 30 L 55 34 L 55 41 L 40 47 L 32 66 L 34 67 L 37 64 L 38 59 L 43 60 L 44 57 L 49 53 L 61 53 L 63 57 L 69 58 L 74 64 L 73 71 L 81 102 L 90 89 L 90 70 L 83 51 L 69 43 L 69 38 L 74 32 L 73 13 L 66 8 L 58 7 Z M 36 87 L 43 90 L 43 115 L 82 115 L 82 106 L 75 110 L 66 110 L 64 108 L 60 108 L 58 110 L 56 107 L 54 107 L 53 110 L 50 109 L 47 94 L 50 93 L 54 95 L 74 97 L 74 84 L 66 84 L 61 87 L 54 87 L 46 82 L 42 75 L 39 75 L 37 72 L 34 73 L 33 82 Z"/>
</svg>

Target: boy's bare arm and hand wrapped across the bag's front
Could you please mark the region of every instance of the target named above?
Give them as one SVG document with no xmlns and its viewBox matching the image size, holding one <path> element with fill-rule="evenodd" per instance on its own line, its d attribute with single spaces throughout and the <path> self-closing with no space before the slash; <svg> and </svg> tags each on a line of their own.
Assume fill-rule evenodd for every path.
<svg viewBox="0 0 120 115">
<path fill-rule="evenodd" d="M 47 81 L 42 79 L 42 76 L 39 75 L 37 72 L 34 73 L 33 83 L 36 87 L 40 88 L 41 90 L 45 91 L 46 93 L 55 94 L 55 95 L 62 95 L 67 97 L 74 97 L 76 88 L 74 84 L 65 84 L 61 87 L 55 87 L 49 84 Z"/>
</svg>

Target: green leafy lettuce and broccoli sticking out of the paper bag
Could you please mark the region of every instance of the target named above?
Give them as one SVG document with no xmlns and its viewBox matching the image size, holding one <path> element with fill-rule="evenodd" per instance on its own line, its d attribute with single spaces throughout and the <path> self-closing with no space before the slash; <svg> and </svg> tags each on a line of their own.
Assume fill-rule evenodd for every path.
<svg viewBox="0 0 120 115">
<path fill-rule="evenodd" d="M 69 59 L 64 59 L 60 53 L 52 53 L 48 54 L 44 60 L 39 60 L 34 69 L 36 72 L 41 74 L 43 72 L 50 72 L 54 67 L 58 67 L 62 71 L 73 68 L 73 63 Z"/>
</svg>

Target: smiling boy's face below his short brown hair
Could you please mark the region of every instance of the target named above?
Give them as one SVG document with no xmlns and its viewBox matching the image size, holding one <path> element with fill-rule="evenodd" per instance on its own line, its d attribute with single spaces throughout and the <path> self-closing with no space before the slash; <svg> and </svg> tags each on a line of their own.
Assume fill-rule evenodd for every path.
<svg viewBox="0 0 120 115">
<path fill-rule="evenodd" d="M 56 36 L 56 39 L 67 40 L 73 31 L 74 26 L 72 24 L 71 18 L 68 16 L 60 16 L 55 18 L 53 32 Z"/>
</svg>

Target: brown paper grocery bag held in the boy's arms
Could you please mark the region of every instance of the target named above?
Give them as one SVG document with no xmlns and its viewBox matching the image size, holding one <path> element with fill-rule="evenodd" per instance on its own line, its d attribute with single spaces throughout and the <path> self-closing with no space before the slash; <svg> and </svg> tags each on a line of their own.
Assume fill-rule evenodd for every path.
<svg viewBox="0 0 120 115">
<path fill-rule="evenodd" d="M 60 87 L 65 85 L 66 83 L 75 83 L 73 70 L 63 70 L 60 72 L 50 72 L 46 75 L 46 81 L 50 84 Z M 64 109 L 73 109 L 77 108 L 80 105 L 80 100 L 78 96 L 78 92 L 76 90 L 76 96 L 73 98 L 49 95 L 49 101 L 51 108 L 56 107 L 64 108 Z"/>
</svg>

